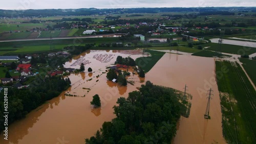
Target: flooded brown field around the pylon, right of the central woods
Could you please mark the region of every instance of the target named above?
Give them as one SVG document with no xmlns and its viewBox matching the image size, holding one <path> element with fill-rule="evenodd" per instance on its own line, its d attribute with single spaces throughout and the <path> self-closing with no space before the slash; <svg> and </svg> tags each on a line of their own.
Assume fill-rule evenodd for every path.
<svg viewBox="0 0 256 144">
<path fill-rule="evenodd" d="M 193 95 L 189 118 L 180 118 L 174 144 L 225 143 L 214 58 L 166 53 L 146 74 L 146 79 L 181 91 L 186 84 L 187 92 Z M 206 120 L 206 93 L 210 88 L 214 90 L 214 97 L 210 103 L 211 119 Z"/>
</svg>

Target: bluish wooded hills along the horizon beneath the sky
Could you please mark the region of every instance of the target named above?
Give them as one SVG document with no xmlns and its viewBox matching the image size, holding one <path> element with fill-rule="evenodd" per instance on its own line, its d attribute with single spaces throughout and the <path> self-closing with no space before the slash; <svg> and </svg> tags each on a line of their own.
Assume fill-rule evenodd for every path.
<svg viewBox="0 0 256 144">
<path fill-rule="evenodd" d="M 218 14 L 230 15 L 232 11 L 256 11 L 255 7 L 200 7 L 200 8 L 130 8 L 130 9 L 42 9 L 42 10 L 0 10 L 0 17 L 46 17 L 46 16 L 67 16 L 67 15 L 93 15 L 93 14 L 114 14 L 114 13 L 159 13 L 159 12 L 200 12 L 201 15 Z M 207 13 L 205 13 L 207 12 Z M 210 13 L 209 13 L 210 12 Z"/>
</svg>

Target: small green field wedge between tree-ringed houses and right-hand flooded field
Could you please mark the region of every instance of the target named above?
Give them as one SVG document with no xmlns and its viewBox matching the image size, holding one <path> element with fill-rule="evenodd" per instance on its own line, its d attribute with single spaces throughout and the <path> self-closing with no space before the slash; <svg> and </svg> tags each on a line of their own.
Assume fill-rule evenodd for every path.
<svg viewBox="0 0 256 144">
<path fill-rule="evenodd" d="M 145 72 L 150 71 L 150 69 L 162 58 L 165 54 L 164 52 L 145 50 L 151 54 L 150 57 L 140 57 L 135 60 L 136 65 L 140 66 Z"/>
</svg>

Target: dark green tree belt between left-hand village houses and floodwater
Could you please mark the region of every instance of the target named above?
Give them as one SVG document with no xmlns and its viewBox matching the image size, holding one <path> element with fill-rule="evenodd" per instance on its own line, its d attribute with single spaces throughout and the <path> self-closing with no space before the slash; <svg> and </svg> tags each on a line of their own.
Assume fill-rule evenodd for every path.
<svg viewBox="0 0 256 144">
<path fill-rule="evenodd" d="M 38 79 L 39 78 L 38 76 Z M 8 88 L 8 125 L 23 118 L 31 110 L 37 108 L 52 98 L 57 97 L 63 90 L 66 90 L 71 82 L 69 79 L 62 77 L 46 77 L 41 83 L 29 88 L 17 89 Z M 4 90 L 0 93 L 0 117 L 3 117 L 4 111 Z M 1 122 L 2 123 L 2 122 Z M 4 129 L 4 125 L 0 124 L 0 131 Z"/>
</svg>

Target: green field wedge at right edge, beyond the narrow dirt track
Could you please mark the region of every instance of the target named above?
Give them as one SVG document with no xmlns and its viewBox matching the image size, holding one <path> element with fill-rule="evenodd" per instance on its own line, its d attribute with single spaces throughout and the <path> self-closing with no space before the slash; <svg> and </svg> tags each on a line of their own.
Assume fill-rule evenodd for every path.
<svg viewBox="0 0 256 144">
<path fill-rule="evenodd" d="M 246 58 L 240 58 L 240 62 L 242 62 L 243 67 L 246 71 L 246 73 L 249 75 L 251 78 L 252 82 L 254 85 L 256 85 L 256 60 L 250 60 Z"/>
</svg>

